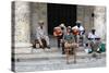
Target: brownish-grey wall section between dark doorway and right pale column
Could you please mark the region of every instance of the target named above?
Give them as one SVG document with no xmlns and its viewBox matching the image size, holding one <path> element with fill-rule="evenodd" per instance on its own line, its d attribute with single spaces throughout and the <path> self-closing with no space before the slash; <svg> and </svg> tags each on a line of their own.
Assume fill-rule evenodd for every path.
<svg viewBox="0 0 109 73">
<path fill-rule="evenodd" d="M 92 5 L 77 5 L 77 20 L 80 20 L 85 27 L 86 32 L 89 32 L 94 27 L 94 7 Z"/>
</svg>

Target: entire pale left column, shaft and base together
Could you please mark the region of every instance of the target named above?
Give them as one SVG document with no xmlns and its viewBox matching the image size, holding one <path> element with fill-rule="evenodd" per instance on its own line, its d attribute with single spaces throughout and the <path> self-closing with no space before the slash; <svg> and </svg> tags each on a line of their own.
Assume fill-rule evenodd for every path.
<svg viewBox="0 0 109 73">
<path fill-rule="evenodd" d="M 15 1 L 15 53 L 31 52 L 29 2 Z"/>
</svg>

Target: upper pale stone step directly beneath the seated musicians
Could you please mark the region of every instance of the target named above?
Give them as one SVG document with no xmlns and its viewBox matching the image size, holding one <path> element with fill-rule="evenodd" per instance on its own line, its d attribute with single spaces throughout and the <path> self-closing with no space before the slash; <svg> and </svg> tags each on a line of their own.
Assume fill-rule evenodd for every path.
<svg viewBox="0 0 109 73">
<path fill-rule="evenodd" d="M 89 58 L 92 57 L 93 53 L 88 54 L 85 51 L 77 51 L 76 52 L 76 58 Z M 97 53 L 99 54 L 99 53 Z M 106 53 L 100 53 L 100 57 L 105 57 Z M 61 53 L 61 50 L 59 49 L 34 49 L 32 53 L 20 53 L 15 54 L 15 60 L 16 61 L 41 61 L 41 60 L 59 60 L 59 59 L 65 59 L 65 54 Z M 71 56 L 73 58 L 73 56 Z"/>
</svg>

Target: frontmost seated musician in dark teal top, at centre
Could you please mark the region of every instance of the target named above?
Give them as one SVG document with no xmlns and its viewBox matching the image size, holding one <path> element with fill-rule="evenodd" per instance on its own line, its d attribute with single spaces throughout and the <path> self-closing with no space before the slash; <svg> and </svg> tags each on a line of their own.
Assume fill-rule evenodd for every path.
<svg viewBox="0 0 109 73">
<path fill-rule="evenodd" d="M 63 36 L 64 39 L 64 51 L 66 53 L 66 63 L 69 63 L 70 54 L 74 54 L 74 63 L 76 62 L 75 58 L 75 48 L 77 48 L 77 44 L 74 40 L 74 35 L 71 33 L 71 28 L 66 28 L 66 34 Z"/>
</svg>

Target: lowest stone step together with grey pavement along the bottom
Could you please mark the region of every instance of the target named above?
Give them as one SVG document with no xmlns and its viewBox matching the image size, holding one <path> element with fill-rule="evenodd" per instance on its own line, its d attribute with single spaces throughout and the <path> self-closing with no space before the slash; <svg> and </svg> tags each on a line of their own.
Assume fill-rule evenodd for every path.
<svg viewBox="0 0 109 73">
<path fill-rule="evenodd" d="M 97 68 L 106 66 L 106 58 L 100 59 L 77 59 L 74 63 L 73 59 L 70 59 L 70 64 L 66 64 L 66 60 L 45 60 L 45 61 L 21 61 L 15 62 L 15 70 L 17 72 L 28 71 L 47 71 L 47 70 L 68 70 L 68 69 L 83 69 L 83 68 Z"/>
</svg>

